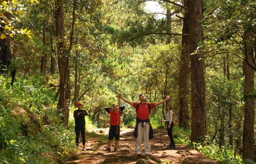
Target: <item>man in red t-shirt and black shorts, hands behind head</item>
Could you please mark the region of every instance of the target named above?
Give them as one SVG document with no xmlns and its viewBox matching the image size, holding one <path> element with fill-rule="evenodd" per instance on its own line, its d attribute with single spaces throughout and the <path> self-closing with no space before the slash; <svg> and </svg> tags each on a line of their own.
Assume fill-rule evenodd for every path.
<svg viewBox="0 0 256 164">
<path fill-rule="evenodd" d="M 117 104 L 114 104 L 112 108 L 104 108 L 110 114 L 108 148 L 106 148 L 105 151 L 110 151 L 110 144 L 114 137 L 116 140 L 114 151 L 117 151 L 118 141 L 120 140 L 120 115 L 124 108 L 124 106 L 119 108 Z"/>
</svg>

